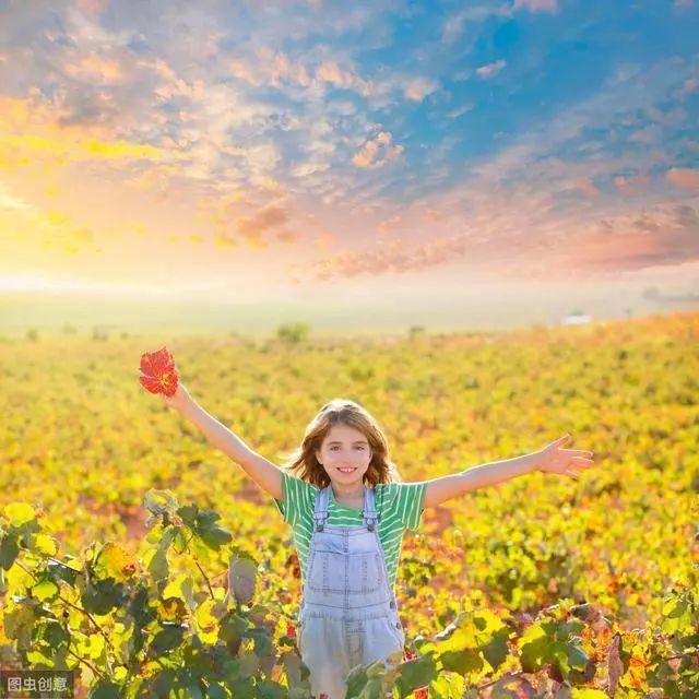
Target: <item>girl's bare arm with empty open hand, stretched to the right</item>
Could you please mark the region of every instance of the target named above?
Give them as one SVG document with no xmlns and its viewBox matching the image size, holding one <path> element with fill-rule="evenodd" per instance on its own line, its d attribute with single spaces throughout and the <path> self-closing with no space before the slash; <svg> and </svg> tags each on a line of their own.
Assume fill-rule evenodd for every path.
<svg viewBox="0 0 699 699">
<path fill-rule="evenodd" d="M 560 445 L 570 439 L 569 435 L 560 437 L 541 451 L 516 457 L 507 461 L 493 461 L 479 466 L 454 473 L 453 475 L 427 481 L 424 507 L 435 507 L 445 500 L 459 497 L 465 493 L 484 488 L 488 485 L 505 483 L 510 478 L 534 471 L 569 475 L 576 481 L 574 469 L 590 469 L 594 465 L 593 452 L 580 449 L 562 449 Z M 590 458 L 589 458 L 590 457 Z"/>
</svg>

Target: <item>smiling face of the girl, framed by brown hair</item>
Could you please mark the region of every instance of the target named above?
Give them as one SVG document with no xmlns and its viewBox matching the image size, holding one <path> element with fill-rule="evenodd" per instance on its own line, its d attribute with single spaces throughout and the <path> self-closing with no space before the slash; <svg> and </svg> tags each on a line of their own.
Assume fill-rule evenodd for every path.
<svg viewBox="0 0 699 699">
<path fill-rule="evenodd" d="M 316 458 L 331 481 L 342 485 L 362 483 L 371 461 L 367 438 L 350 425 L 333 425 Z"/>
</svg>

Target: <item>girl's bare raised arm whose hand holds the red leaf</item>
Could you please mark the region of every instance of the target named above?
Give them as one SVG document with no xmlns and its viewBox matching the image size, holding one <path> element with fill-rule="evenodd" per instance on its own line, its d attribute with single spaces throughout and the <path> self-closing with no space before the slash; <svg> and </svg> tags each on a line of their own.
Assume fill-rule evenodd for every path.
<svg viewBox="0 0 699 699">
<path fill-rule="evenodd" d="M 196 425 L 206 437 L 210 445 L 221 449 L 227 457 L 239 464 L 242 470 L 273 498 L 281 500 L 282 472 L 264 457 L 252 451 L 230 429 L 212 417 L 190 396 L 189 391 L 179 383 L 171 398 L 161 394 L 163 400 Z"/>
</svg>

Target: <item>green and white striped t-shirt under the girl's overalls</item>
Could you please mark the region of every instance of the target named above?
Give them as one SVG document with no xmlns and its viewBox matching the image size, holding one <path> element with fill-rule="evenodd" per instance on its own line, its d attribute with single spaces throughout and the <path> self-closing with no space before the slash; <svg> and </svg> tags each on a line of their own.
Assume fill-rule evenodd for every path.
<svg viewBox="0 0 699 699">
<path fill-rule="evenodd" d="M 403 533 L 419 526 L 426 487 L 427 483 L 379 483 L 375 487 L 376 509 L 380 517 L 379 540 L 383 546 L 391 587 L 395 584 Z M 301 567 L 301 582 L 306 580 L 317 493 L 317 486 L 282 471 L 282 499 L 274 498 L 274 503 L 284 516 L 284 521 L 292 526 Z M 333 526 L 356 526 L 363 524 L 364 520 L 360 510 L 337 502 L 330 488 L 325 522 Z"/>
</svg>

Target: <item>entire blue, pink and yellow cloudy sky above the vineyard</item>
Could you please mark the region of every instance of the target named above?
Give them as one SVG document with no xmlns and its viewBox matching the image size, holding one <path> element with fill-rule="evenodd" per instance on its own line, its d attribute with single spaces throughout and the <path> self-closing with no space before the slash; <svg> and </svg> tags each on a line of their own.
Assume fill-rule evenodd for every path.
<svg viewBox="0 0 699 699">
<path fill-rule="evenodd" d="M 691 297 L 697 36 L 691 0 L 4 0 L 0 294 Z"/>
</svg>

